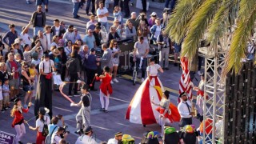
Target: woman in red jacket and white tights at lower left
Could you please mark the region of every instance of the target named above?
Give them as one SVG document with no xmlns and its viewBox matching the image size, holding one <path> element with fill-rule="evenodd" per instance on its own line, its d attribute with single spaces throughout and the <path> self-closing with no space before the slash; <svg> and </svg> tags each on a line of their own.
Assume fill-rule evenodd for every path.
<svg viewBox="0 0 256 144">
<path fill-rule="evenodd" d="M 16 136 L 15 136 L 15 144 L 22 143 L 21 139 L 26 134 L 26 128 L 24 125 L 23 113 L 27 113 L 29 111 L 29 108 L 31 106 L 31 102 L 29 102 L 28 107 L 24 108 L 22 107 L 22 101 L 20 99 L 14 100 L 14 108 L 10 110 L 10 116 L 14 117 L 14 121 L 12 122 L 11 126 L 15 128 L 16 130 Z"/>
</svg>

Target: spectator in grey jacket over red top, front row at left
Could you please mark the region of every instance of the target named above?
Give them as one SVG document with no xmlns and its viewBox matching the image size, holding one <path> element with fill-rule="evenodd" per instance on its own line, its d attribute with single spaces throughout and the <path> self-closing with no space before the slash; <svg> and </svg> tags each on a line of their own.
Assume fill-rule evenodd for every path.
<svg viewBox="0 0 256 144">
<path fill-rule="evenodd" d="M 10 99 L 12 99 L 19 94 L 19 74 L 21 72 L 21 66 L 14 60 L 14 54 L 12 53 L 8 54 L 6 68 L 12 74 L 10 79 Z"/>
</svg>

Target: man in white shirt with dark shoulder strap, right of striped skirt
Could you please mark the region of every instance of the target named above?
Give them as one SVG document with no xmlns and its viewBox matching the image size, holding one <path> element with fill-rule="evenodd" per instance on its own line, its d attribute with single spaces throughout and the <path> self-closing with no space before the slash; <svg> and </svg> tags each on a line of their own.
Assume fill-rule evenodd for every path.
<svg viewBox="0 0 256 144">
<path fill-rule="evenodd" d="M 194 115 L 194 112 L 191 109 L 192 104 L 188 101 L 186 92 L 182 92 L 182 94 L 179 95 L 179 98 L 182 98 L 182 102 L 179 102 L 178 104 L 178 113 L 181 115 L 179 126 L 184 127 L 186 125 L 191 125 L 192 115 Z"/>
</svg>

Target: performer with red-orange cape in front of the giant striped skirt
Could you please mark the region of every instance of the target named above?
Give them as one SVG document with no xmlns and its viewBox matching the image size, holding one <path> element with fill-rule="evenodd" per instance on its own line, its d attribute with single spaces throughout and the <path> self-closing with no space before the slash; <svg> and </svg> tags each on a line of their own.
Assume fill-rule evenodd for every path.
<svg viewBox="0 0 256 144">
<path fill-rule="evenodd" d="M 160 113 L 159 115 L 159 125 L 162 127 L 162 134 L 164 134 L 164 127 L 166 125 L 166 118 L 170 120 L 170 122 L 179 122 L 181 119 L 180 114 L 178 113 L 178 109 L 174 104 L 172 104 L 169 100 L 170 92 L 166 90 L 162 95 L 161 102 L 159 104 L 154 103 L 152 99 L 152 103 L 155 106 L 159 106 L 156 110 Z"/>
</svg>

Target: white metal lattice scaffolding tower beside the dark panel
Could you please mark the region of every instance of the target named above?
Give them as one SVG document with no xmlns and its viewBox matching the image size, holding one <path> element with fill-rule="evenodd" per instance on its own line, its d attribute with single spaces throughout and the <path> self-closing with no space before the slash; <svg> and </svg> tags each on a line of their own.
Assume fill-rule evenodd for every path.
<svg viewBox="0 0 256 144">
<path fill-rule="evenodd" d="M 226 50 L 221 46 L 201 47 L 198 55 L 205 58 L 205 93 L 203 104 L 203 143 L 223 143 L 225 114 L 225 80 L 222 81 L 222 69 Z M 207 98 L 206 98 L 207 96 Z M 212 120 L 212 121 L 209 121 Z M 206 122 L 210 122 L 207 123 Z M 207 123 L 207 126 L 206 126 Z M 216 129 L 210 128 L 215 127 Z M 207 132 L 206 132 L 207 130 Z M 210 130 L 210 132 L 208 131 Z M 216 141 L 217 139 L 218 141 Z"/>
</svg>

